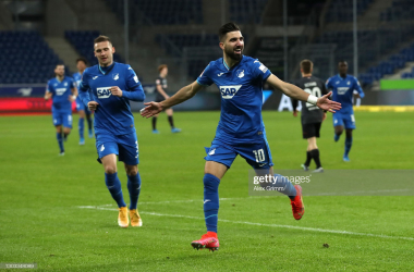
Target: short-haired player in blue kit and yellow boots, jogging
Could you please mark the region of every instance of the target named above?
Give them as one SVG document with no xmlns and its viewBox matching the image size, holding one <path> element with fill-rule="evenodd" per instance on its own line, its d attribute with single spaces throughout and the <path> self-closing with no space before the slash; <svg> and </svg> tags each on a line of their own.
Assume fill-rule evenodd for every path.
<svg viewBox="0 0 414 272">
<path fill-rule="evenodd" d="M 141 191 L 138 173 L 138 140 L 130 100 L 144 101 L 143 86 L 127 64 L 113 62 L 111 40 L 99 36 L 94 40 L 98 64 L 85 70 L 80 85 L 82 101 L 94 113 L 94 129 L 98 161 L 105 169 L 105 182 L 119 208 L 118 224 L 142 226 L 137 202 Z M 117 156 L 124 162 L 130 193 L 130 214 L 123 200 L 118 177 Z"/>
</svg>

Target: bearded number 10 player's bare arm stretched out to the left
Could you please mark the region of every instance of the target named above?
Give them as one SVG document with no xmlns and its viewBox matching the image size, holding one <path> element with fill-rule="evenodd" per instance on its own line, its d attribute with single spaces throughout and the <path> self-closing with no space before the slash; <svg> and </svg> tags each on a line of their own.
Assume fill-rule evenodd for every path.
<svg viewBox="0 0 414 272">
<path fill-rule="evenodd" d="M 200 89 L 203 89 L 203 86 L 199 85 L 197 82 L 194 82 L 185 87 L 182 87 L 179 91 L 176 91 L 175 95 L 173 95 L 169 99 L 163 100 L 162 102 L 157 103 L 151 101 L 144 103 L 146 107 L 141 110 L 141 115 L 143 118 L 151 118 L 160 113 L 165 109 L 171 108 L 172 106 L 188 100 L 190 98 L 194 97 L 195 94 L 197 94 Z"/>
</svg>

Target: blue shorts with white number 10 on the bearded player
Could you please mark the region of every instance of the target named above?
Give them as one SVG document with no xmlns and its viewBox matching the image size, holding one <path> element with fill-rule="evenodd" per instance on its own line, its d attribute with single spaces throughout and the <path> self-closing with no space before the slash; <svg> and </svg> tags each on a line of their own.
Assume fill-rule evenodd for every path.
<svg viewBox="0 0 414 272">
<path fill-rule="evenodd" d="M 224 144 L 215 138 L 209 149 L 206 148 L 206 161 L 216 161 L 230 169 L 235 157 L 240 154 L 253 169 L 269 169 L 273 166 L 269 145 L 264 138 L 259 144 Z"/>
</svg>

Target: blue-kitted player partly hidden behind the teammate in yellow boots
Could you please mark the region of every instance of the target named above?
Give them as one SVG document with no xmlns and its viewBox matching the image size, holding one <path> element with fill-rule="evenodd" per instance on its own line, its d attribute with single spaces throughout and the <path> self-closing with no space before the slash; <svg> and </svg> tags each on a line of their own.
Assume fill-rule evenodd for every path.
<svg viewBox="0 0 414 272">
<path fill-rule="evenodd" d="M 78 72 L 73 74 L 73 79 L 76 82 L 76 86 L 80 87 L 82 74 L 87 67 L 86 59 L 78 58 L 76 60 L 76 67 Z M 86 116 L 87 126 L 88 126 L 88 136 L 89 138 L 94 137 L 94 134 L 92 132 L 92 112 L 87 108 L 87 104 L 84 104 L 84 102 L 82 102 L 81 97 L 76 98 L 76 110 L 80 114 L 80 120 L 77 123 L 77 128 L 80 129 L 80 145 L 85 145 L 85 137 L 84 137 L 85 116 Z"/>
</svg>

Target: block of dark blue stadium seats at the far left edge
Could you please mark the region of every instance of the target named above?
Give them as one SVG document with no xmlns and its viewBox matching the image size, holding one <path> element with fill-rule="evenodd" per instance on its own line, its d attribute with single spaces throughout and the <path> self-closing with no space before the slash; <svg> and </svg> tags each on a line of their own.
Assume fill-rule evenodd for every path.
<svg viewBox="0 0 414 272">
<path fill-rule="evenodd" d="M 37 32 L 0 32 L 0 48 L 1 84 L 46 83 L 63 63 Z"/>
</svg>

